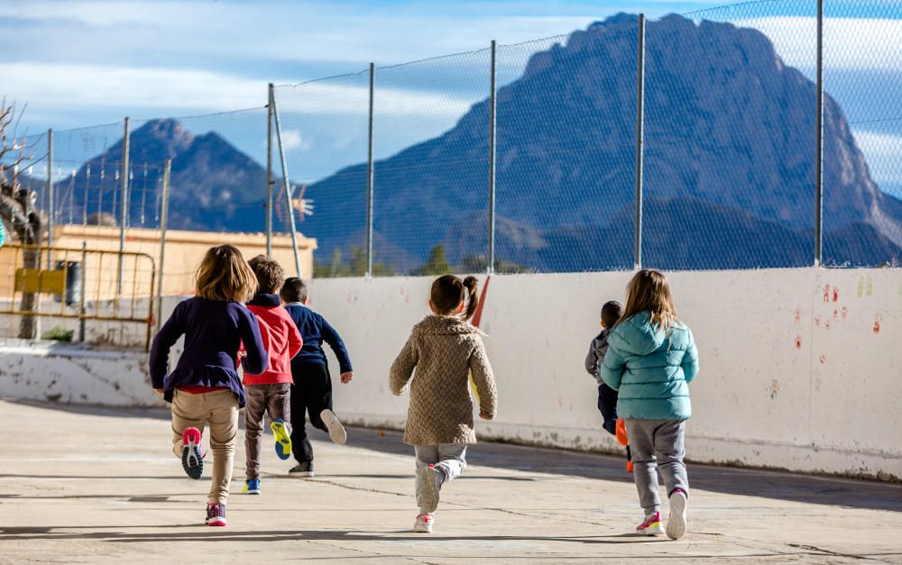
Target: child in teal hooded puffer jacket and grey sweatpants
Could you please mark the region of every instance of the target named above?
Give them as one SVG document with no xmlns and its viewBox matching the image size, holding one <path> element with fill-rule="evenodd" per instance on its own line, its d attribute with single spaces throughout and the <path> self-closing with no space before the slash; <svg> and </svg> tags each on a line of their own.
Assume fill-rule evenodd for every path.
<svg viewBox="0 0 902 565">
<path fill-rule="evenodd" d="M 670 502 L 667 537 L 686 533 L 684 434 L 692 415 L 688 383 L 698 373 L 692 332 L 676 318 L 667 278 L 657 270 L 640 270 L 627 287 L 626 310 L 608 336 L 601 375 L 617 390 L 617 412 L 626 419 L 633 478 L 645 520 L 636 531 L 663 533 L 658 472 Z"/>
</svg>

